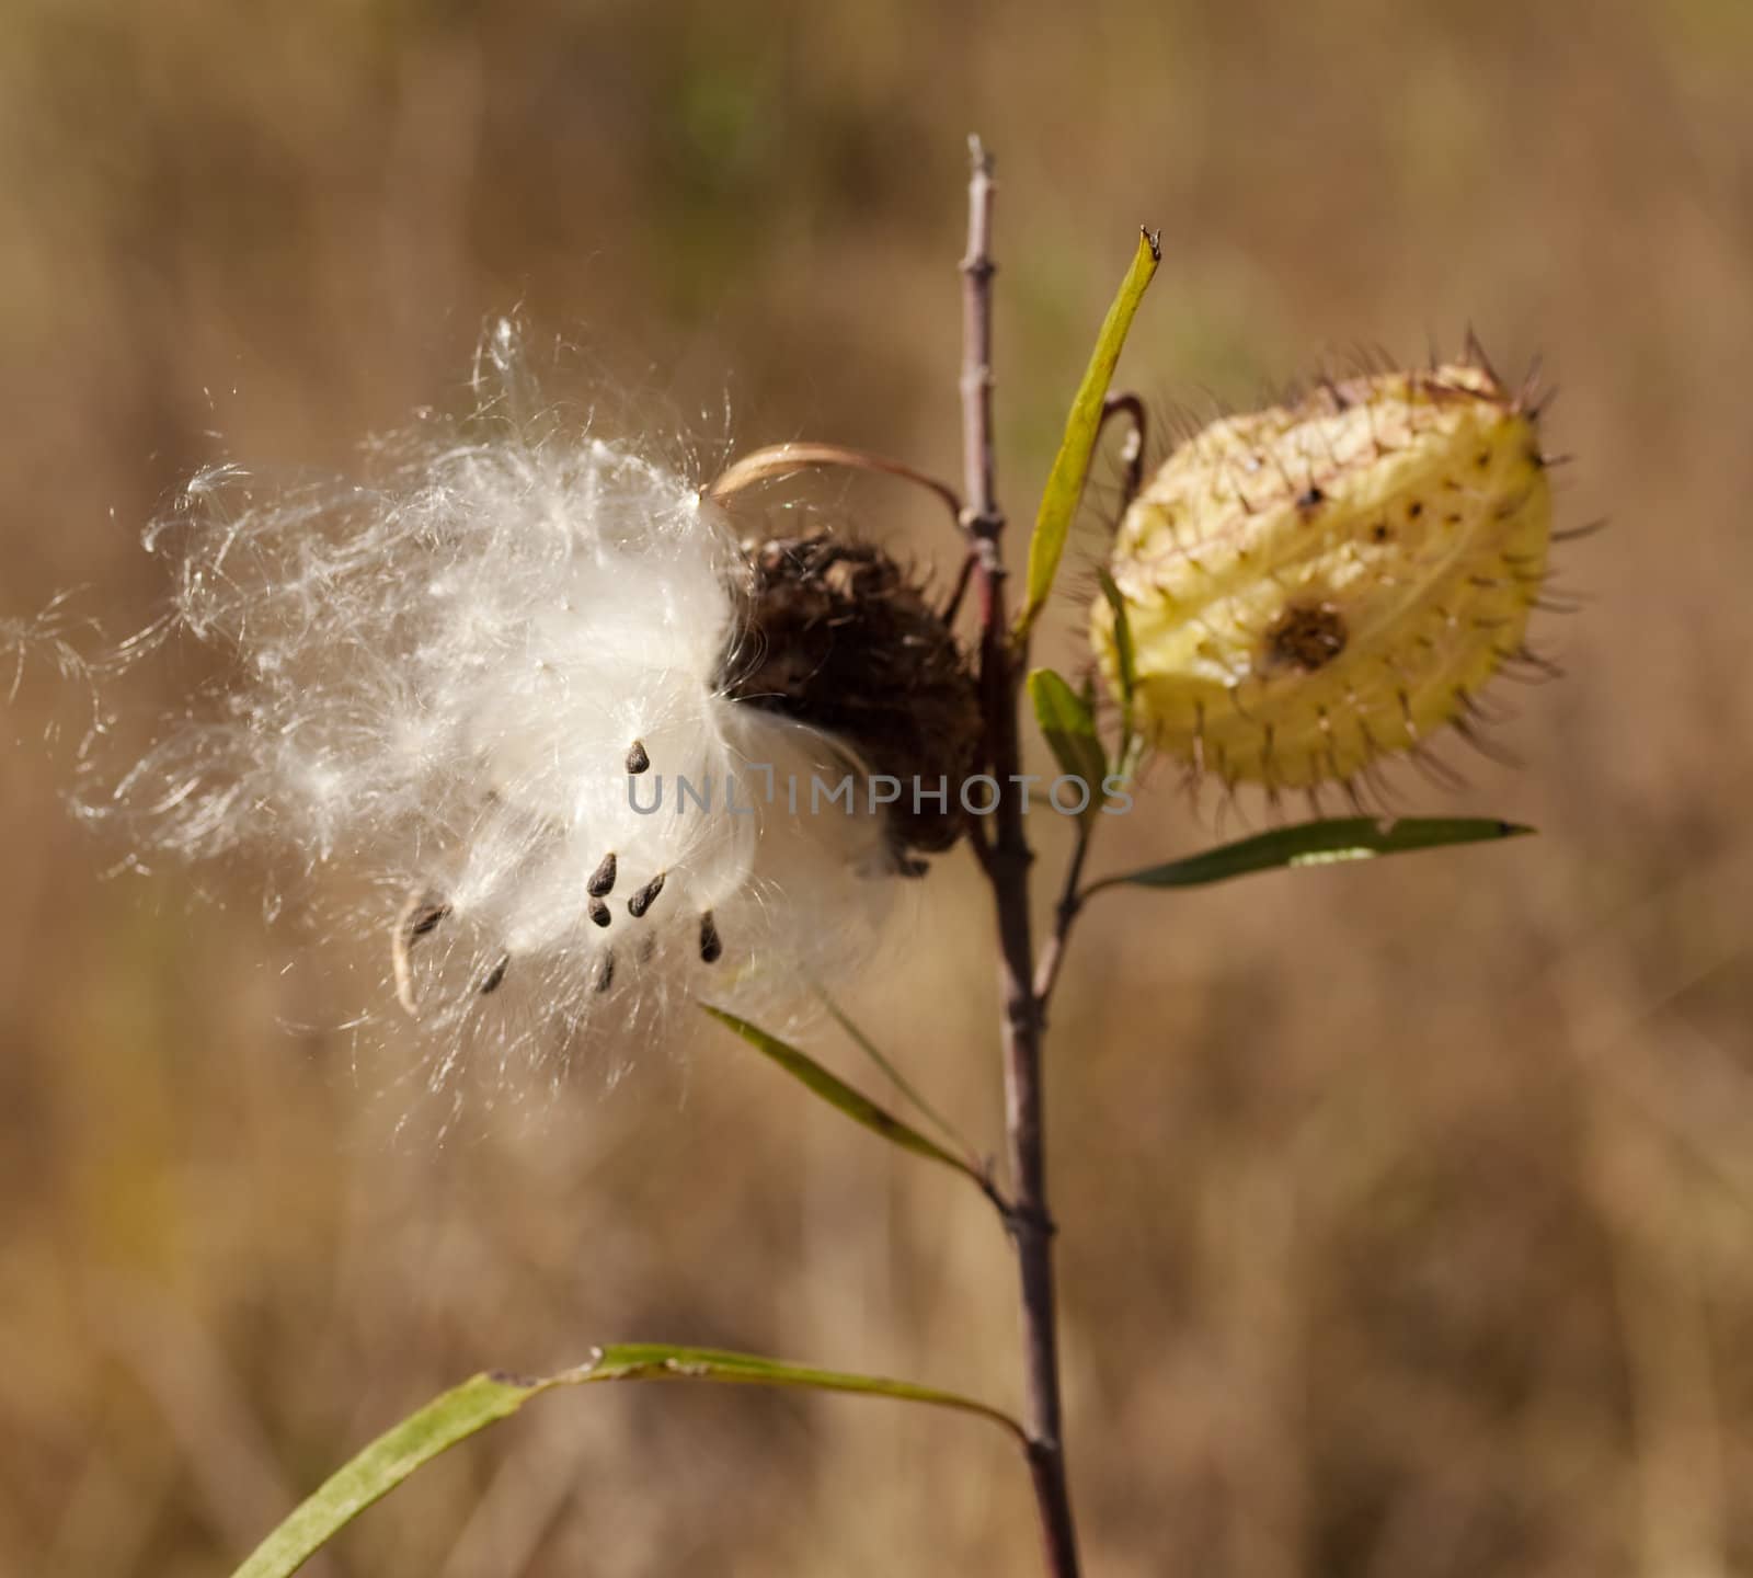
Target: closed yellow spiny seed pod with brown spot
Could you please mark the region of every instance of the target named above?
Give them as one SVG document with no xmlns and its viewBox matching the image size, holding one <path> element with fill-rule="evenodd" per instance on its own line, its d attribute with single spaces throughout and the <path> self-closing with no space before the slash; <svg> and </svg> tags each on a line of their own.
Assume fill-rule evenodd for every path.
<svg viewBox="0 0 1753 1578">
<path fill-rule="evenodd" d="M 1518 654 L 1550 531 L 1536 414 L 1480 366 L 1213 423 L 1115 540 L 1138 728 L 1227 782 L 1348 782 L 1462 719 Z M 1097 600 L 1110 686 L 1113 629 Z"/>
</svg>

